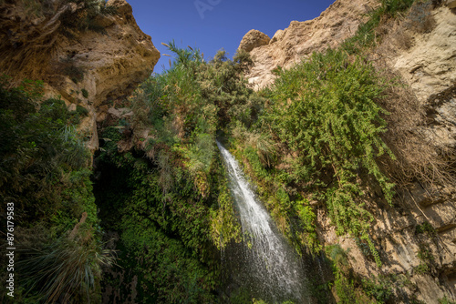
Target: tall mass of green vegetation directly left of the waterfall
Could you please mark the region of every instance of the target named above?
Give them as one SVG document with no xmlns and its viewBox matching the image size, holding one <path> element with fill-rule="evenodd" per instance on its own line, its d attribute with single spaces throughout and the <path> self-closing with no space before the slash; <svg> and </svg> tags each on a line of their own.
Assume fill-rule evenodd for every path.
<svg viewBox="0 0 456 304">
<path fill-rule="evenodd" d="M 231 105 L 247 108 L 243 94 L 252 91 L 238 85 L 241 59 L 220 53 L 205 62 L 199 50 L 167 46 L 176 55 L 171 68 L 138 88 L 131 119 L 100 133 L 96 162 L 111 173 L 95 194 L 103 224 L 119 232 L 119 266 L 139 278 L 140 301 L 207 303 L 220 284 L 219 249 L 241 240 L 216 131 L 244 114 Z M 129 137 L 137 147 L 120 154 L 119 141 Z"/>
</svg>

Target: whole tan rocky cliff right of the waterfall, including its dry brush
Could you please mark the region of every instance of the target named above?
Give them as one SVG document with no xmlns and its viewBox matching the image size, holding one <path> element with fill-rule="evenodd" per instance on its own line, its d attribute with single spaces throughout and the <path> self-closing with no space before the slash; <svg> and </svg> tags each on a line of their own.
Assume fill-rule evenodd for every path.
<svg viewBox="0 0 456 304">
<path fill-rule="evenodd" d="M 267 44 L 255 45 L 251 40 L 260 39 L 260 35 L 249 32 L 243 38 L 254 46 L 249 82 L 255 88 L 268 86 L 274 81 L 271 71 L 276 66 L 287 68 L 313 51 L 339 45 L 356 32 L 365 14 L 376 5 L 375 1 L 338 0 L 314 20 L 293 21 Z M 325 208 L 317 207 L 320 241 L 347 249 L 351 268 L 361 278 L 394 278 L 389 284 L 400 290 L 395 302 L 403 303 L 437 304 L 439 299 L 456 299 L 456 183 L 452 177 L 456 15 L 453 1 L 433 5 L 412 6 L 409 15 L 378 28 L 384 33 L 381 42 L 366 55 L 378 70 L 401 79 L 404 86 L 385 104 L 391 113 L 386 137 L 398 147 L 395 153 L 405 159 L 406 167 L 421 166 L 426 172 L 399 187 L 394 208 L 381 202 L 373 204 L 381 190 L 368 190 L 372 201 L 367 204 L 376 218 L 372 238 L 382 268 L 368 257 L 366 244 L 359 239 L 337 237 Z M 440 171 L 432 168 L 440 166 L 437 159 Z M 394 176 L 396 168 L 389 170 Z M 440 174 L 443 177 L 435 176 Z"/>
</svg>

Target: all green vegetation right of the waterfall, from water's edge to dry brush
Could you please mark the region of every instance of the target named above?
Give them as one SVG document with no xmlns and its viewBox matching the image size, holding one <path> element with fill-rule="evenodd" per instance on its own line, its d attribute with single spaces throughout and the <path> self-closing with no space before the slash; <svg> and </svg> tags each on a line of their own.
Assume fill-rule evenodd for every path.
<svg viewBox="0 0 456 304">
<path fill-rule="evenodd" d="M 248 161 L 266 205 L 297 248 L 320 249 L 309 200 L 321 200 L 337 233 L 366 241 L 379 267 L 360 180 L 371 176 L 392 203 L 394 184 L 377 163 L 383 155 L 394 158 L 380 137 L 387 113 L 378 100 L 387 84 L 368 63 L 339 50 L 276 73 L 254 127 L 238 122 L 233 128 L 237 147 L 244 146 L 238 155 Z"/>
</svg>

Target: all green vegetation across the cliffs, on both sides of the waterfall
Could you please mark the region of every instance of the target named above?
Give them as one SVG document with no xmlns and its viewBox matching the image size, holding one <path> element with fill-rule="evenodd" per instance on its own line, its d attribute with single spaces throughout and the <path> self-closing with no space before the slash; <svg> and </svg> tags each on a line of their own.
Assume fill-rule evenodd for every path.
<svg viewBox="0 0 456 304">
<path fill-rule="evenodd" d="M 61 15 L 62 33 L 104 32 L 99 18 L 113 9 L 104 1 L 76 3 L 77 14 Z M 253 64 L 247 53 L 229 60 L 222 50 L 205 61 L 198 49 L 165 45 L 174 56 L 170 69 L 124 101 L 132 117 L 99 130 L 94 172 L 74 126 L 88 110 L 77 106 L 68 113 L 62 100 L 43 100 L 39 82 L 11 87 L 2 78 L 0 198 L 15 203 L 17 238 L 24 244 L 17 299 L 99 302 L 100 290 L 109 287 L 119 290 L 120 301 L 134 295 L 144 303 L 216 302 L 223 292 L 221 252 L 245 237 L 215 146 L 219 137 L 242 161 L 295 250 L 328 258 L 334 279 L 316 282 L 315 299 L 327 301 L 333 289 L 341 303 L 390 301 L 391 285 L 411 284 L 408 279 L 355 276 L 347 250 L 320 244 L 316 209 L 327 213 L 337 235 L 355 238 L 365 258 L 381 268 L 370 228 L 372 210 L 393 207 L 395 195 L 380 166 L 395 160 L 383 140 L 389 113 L 380 106 L 391 84 L 362 54 L 381 40 L 379 26 L 410 6 L 417 14 L 409 26 L 422 24 L 426 31 L 429 2 L 414 3 L 382 1 L 341 47 L 276 69 L 274 86 L 260 92 L 244 79 Z M 40 7 L 29 3 L 34 14 L 52 15 Z M 60 65 L 75 83 L 83 79 L 70 56 Z M 85 88 L 81 94 L 88 98 Z M 119 251 L 117 265 L 103 272 L 101 282 L 101 268 L 115 258 L 104 248 L 100 226 L 119 237 L 111 244 Z M 428 222 L 415 233 L 436 235 Z M 435 270 L 429 249 L 422 246 L 418 257 L 416 272 Z M 242 288 L 230 292 L 233 303 L 264 303 Z"/>
</svg>

